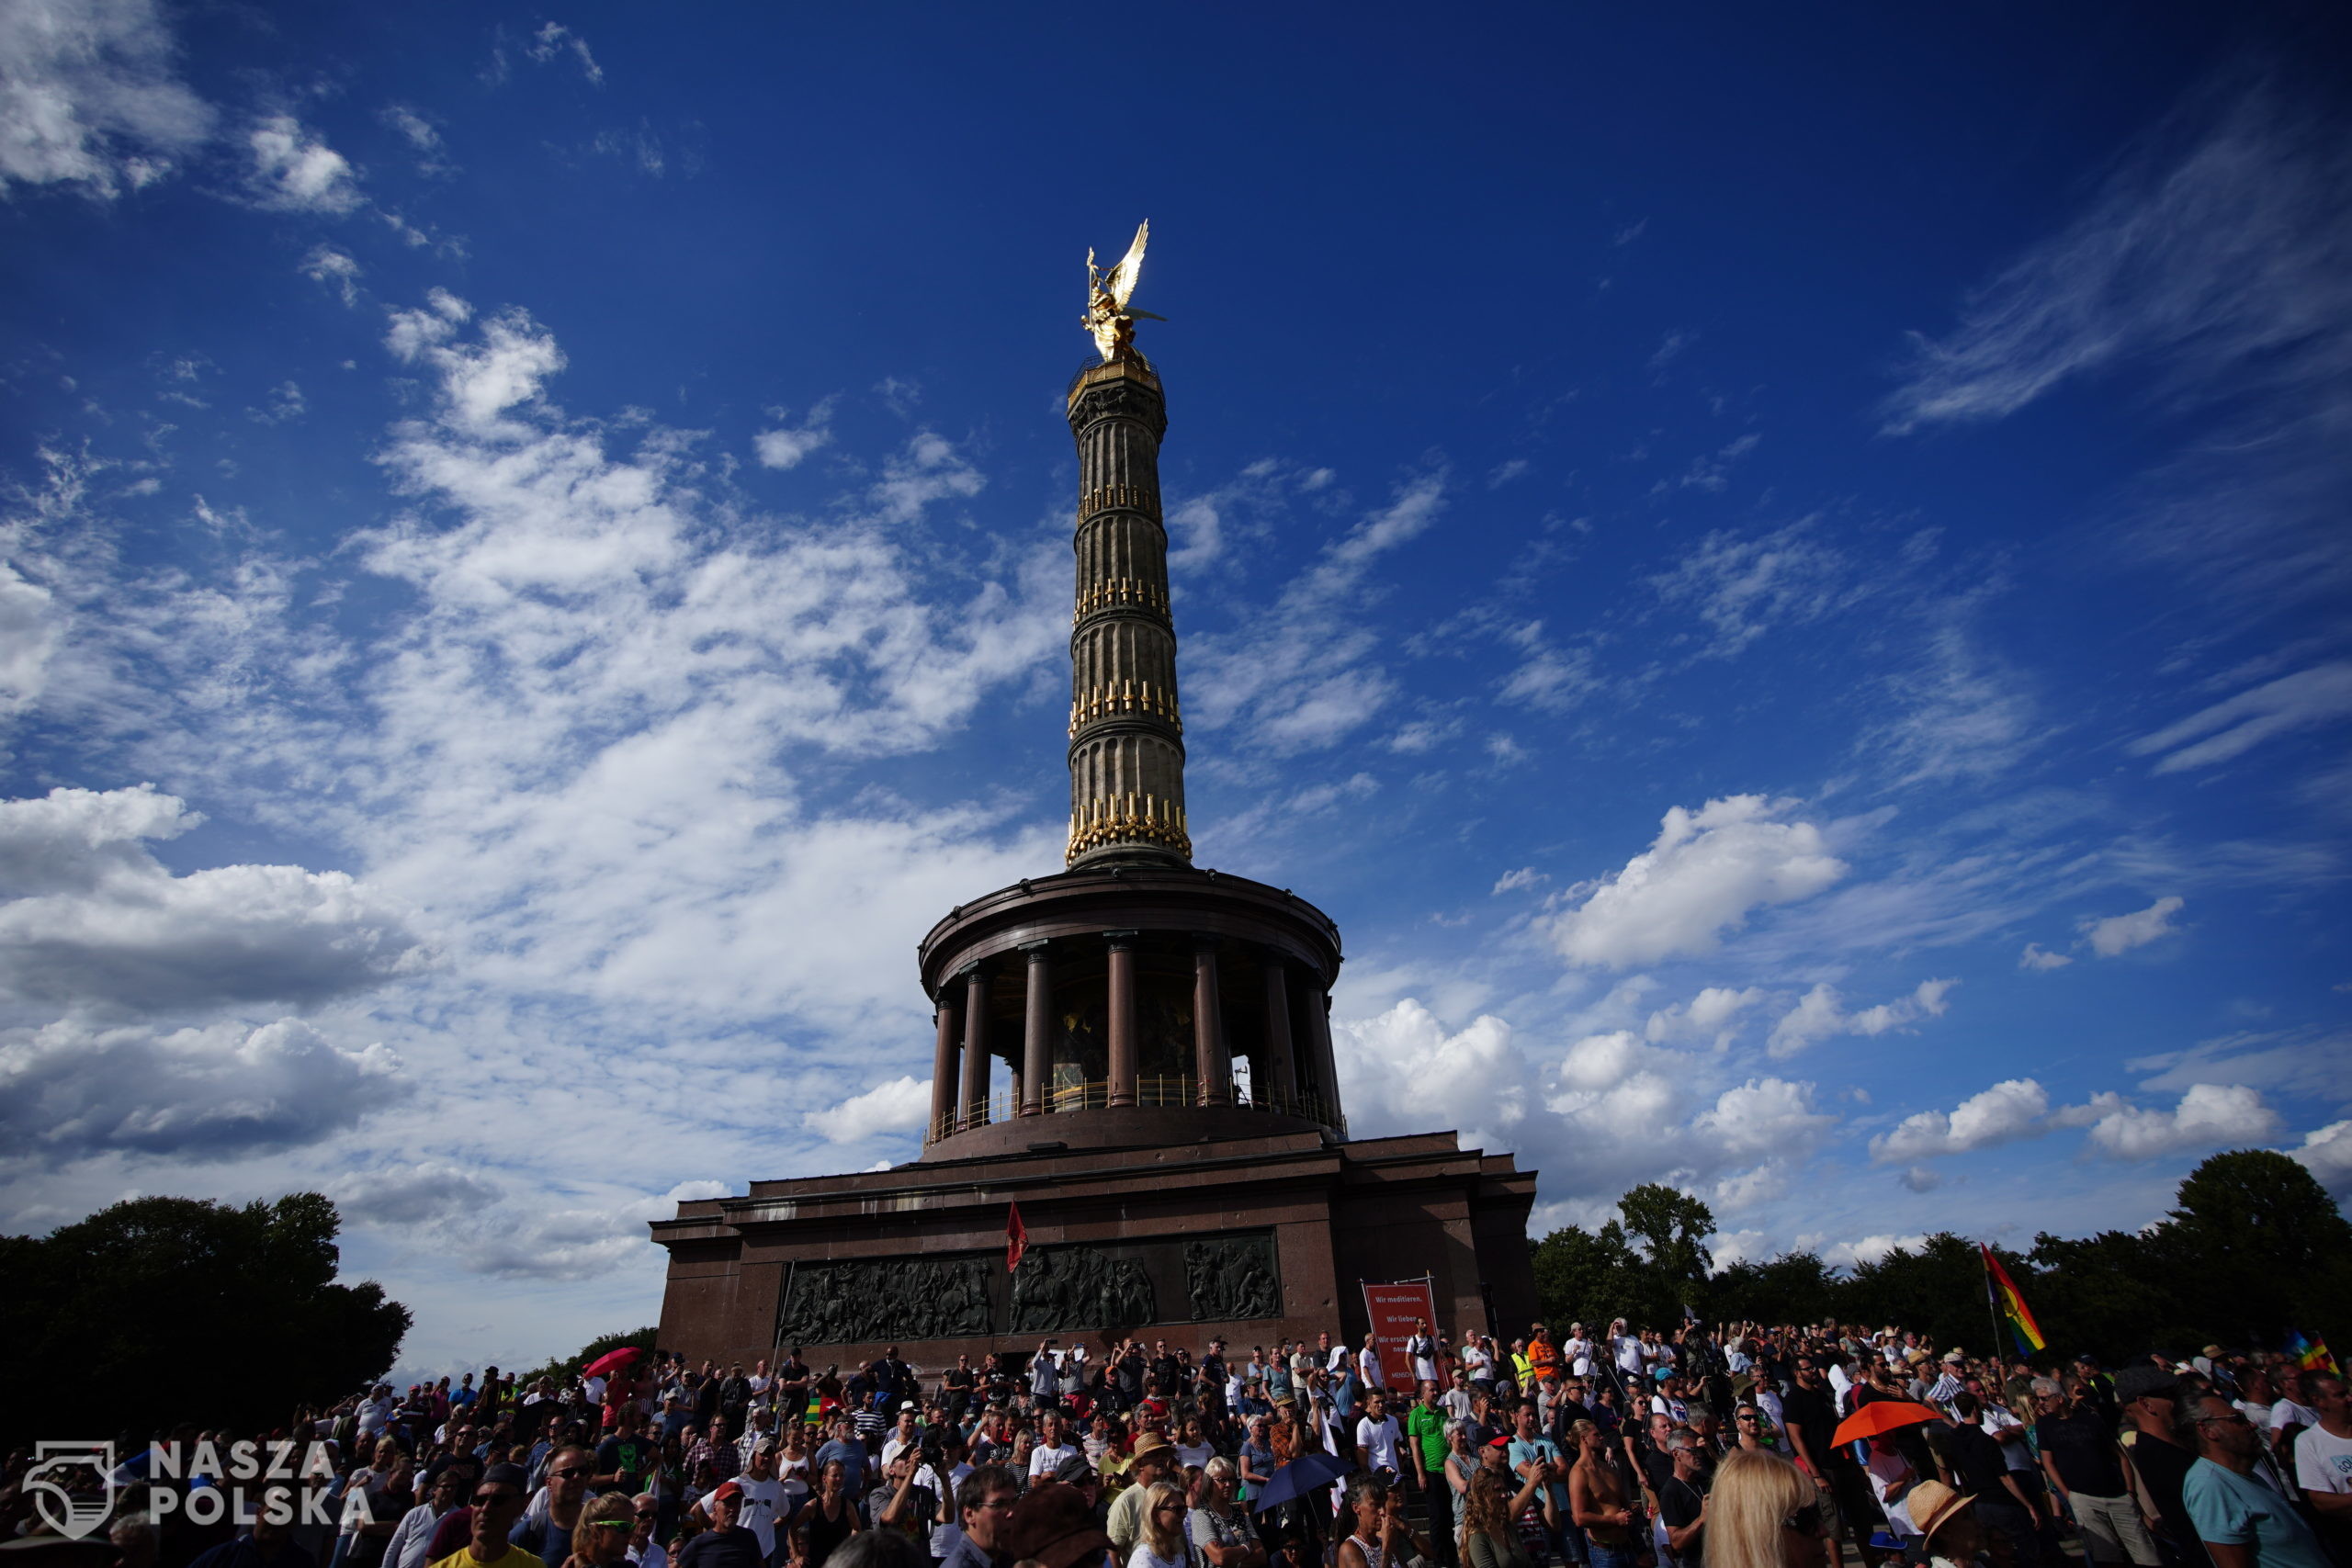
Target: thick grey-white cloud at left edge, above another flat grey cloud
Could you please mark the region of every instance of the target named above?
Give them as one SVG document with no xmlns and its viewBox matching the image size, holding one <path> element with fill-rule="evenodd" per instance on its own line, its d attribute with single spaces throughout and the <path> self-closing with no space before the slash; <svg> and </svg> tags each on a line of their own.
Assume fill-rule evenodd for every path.
<svg viewBox="0 0 2352 1568">
<path fill-rule="evenodd" d="M 0 802 L 0 994 L 132 1011 L 308 1004 L 414 966 L 402 914 L 343 872 L 174 877 L 146 842 L 200 820 L 151 785 Z"/>
</svg>

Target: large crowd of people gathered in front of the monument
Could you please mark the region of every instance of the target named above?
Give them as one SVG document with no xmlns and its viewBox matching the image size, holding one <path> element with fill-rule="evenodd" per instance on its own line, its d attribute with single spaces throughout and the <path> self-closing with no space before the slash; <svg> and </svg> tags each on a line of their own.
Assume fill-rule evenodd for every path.
<svg viewBox="0 0 2352 1568">
<path fill-rule="evenodd" d="M 325 1507 L 205 1521 L 186 1493 L 221 1476 L 127 1462 L 113 1568 L 2352 1568 L 2343 1378 L 2218 1345 L 2110 1371 L 1616 1321 L 1105 1335 L 929 1373 L 652 1352 L 242 1436 L 310 1455 L 278 1488 Z M 28 1465 L 0 1474 L 0 1549 L 47 1528 Z"/>
</svg>

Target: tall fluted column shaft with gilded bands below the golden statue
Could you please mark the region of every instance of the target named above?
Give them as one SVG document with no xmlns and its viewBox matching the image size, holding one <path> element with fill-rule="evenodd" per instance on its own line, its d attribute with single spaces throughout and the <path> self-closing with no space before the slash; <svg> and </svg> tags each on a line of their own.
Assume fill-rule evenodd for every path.
<svg viewBox="0 0 2352 1568">
<path fill-rule="evenodd" d="M 1087 367 L 1077 437 L 1077 607 L 1070 616 L 1070 865 L 1190 865 L 1169 536 L 1160 520 L 1167 402 L 1141 357 Z"/>
</svg>

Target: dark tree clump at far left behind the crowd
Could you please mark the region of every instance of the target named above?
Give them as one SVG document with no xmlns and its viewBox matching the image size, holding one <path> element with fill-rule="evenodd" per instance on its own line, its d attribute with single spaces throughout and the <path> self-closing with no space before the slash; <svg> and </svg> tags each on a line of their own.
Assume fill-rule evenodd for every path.
<svg viewBox="0 0 2352 1568">
<path fill-rule="evenodd" d="M 71 1368 L 75 1406 L 146 1441 L 179 1420 L 259 1432 L 379 1378 L 409 1309 L 336 1284 L 341 1218 L 296 1192 L 242 1208 L 129 1199 L 47 1237 L 0 1239 L 0 1345 Z M 0 1441 L 54 1418 L 9 1401 Z"/>
</svg>

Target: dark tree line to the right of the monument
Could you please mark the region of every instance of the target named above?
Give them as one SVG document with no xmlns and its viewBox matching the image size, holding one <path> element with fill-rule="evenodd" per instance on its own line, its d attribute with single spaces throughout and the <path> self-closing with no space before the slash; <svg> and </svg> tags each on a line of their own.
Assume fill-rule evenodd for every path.
<svg viewBox="0 0 2352 1568">
<path fill-rule="evenodd" d="M 1557 1331 L 1623 1316 L 1672 1328 L 1705 1324 L 1896 1324 L 1938 1345 L 1976 1349 L 1992 1335 L 1976 1241 L 1936 1232 L 1917 1246 L 1832 1267 L 1818 1253 L 1715 1267 L 1705 1201 L 1644 1182 L 1597 1229 L 1555 1229 L 1534 1248 L 1536 1298 Z M 2154 1225 L 2027 1251 L 1994 1244 L 2049 1340 L 2049 1361 L 2096 1354 L 2114 1366 L 2209 1342 L 2279 1349 L 2293 1331 L 2352 1347 L 2352 1222 L 2286 1154 L 2237 1150 L 2197 1166 Z M 2013 1354 L 2006 1324 L 1999 1349 Z"/>
</svg>

